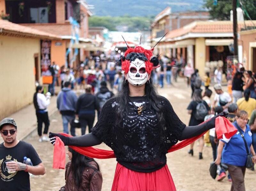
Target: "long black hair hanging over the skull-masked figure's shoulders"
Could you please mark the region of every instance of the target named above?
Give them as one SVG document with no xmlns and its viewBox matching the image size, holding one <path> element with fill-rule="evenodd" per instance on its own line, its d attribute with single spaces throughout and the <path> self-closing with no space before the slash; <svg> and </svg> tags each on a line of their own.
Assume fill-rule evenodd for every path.
<svg viewBox="0 0 256 191">
<path fill-rule="evenodd" d="M 122 124 L 123 118 L 127 115 L 127 104 L 129 103 L 129 83 L 127 80 L 123 80 L 122 90 L 117 94 L 116 101 L 119 104 L 119 109 L 117 110 L 117 120 L 116 125 Z M 155 86 L 152 83 L 151 77 L 149 78 L 149 83 L 145 84 L 145 95 L 147 96 L 149 104 L 147 106 L 150 109 L 156 111 L 157 119 L 160 124 L 163 124 L 163 111 L 162 106 L 159 101 L 159 96 L 156 92 Z"/>
</svg>

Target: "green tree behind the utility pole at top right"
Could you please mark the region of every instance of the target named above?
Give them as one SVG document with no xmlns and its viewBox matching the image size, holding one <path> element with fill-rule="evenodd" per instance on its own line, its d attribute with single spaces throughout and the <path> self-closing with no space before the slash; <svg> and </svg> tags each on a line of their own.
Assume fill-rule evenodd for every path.
<svg viewBox="0 0 256 191">
<path fill-rule="evenodd" d="M 217 5 L 213 5 L 213 0 L 204 0 L 204 8 L 209 10 L 212 19 L 230 20 L 230 11 L 232 10 L 233 0 L 218 0 Z M 237 0 L 239 2 L 239 0 Z M 244 19 L 249 19 L 246 11 L 252 18 L 256 19 L 256 1 L 255 0 L 241 0 L 242 5 L 239 5 L 244 11 Z M 240 3 L 238 3 L 240 4 Z"/>
</svg>

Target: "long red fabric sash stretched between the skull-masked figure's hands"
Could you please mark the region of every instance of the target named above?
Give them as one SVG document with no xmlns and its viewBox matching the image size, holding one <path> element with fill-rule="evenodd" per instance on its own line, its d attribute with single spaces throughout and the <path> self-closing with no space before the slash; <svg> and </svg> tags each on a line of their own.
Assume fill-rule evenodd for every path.
<svg viewBox="0 0 256 191">
<path fill-rule="evenodd" d="M 210 120 L 210 119 L 209 119 Z M 204 121 L 203 123 L 205 123 Z M 217 133 L 218 138 L 222 138 L 222 135 L 225 134 L 227 138 L 230 138 L 234 134 L 236 134 L 237 129 L 232 125 L 232 123 L 226 119 L 225 117 L 217 117 L 215 119 L 215 129 Z M 198 138 L 203 136 L 206 132 L 202 133 L 201 135 L 185 139 L 175 145 L 173 145 L 168 152 L 173 152 L 176 150 L 179 150 L 183 147 L 186 147 L 187 145 L 193 143 L 196 141 Z M 65 133 L 60 133 L 61 135 L 64 136 L 69 136 L 71 135 L 65 134 Z M 65 156 L 63 157 L 62 153 L 65 153 L 65 147 L 64 144 L 60 144 L 59 142 L 62 142 L 59 137 L 57 137 L 56 142 L 54 144 L 54 154 L 53 154 L 53 168 L 62 168 L 62 164 L 65 165 Z M 108 150 L 103 150 L 103 149 L 96 149 L 93 147 L 77 147 L 77 146 L 70 146 L 73 150 L 79 152 L 82 155 L 85 155 L 90 158 L 116 158 L 114 151 L 108 151 Z M 65 155 L 65 154 L 64 154 Z M 56 159 L 61 160 L 61 162 L 57 161 Z M 63 162 L 64 161 L 64 162 Z M 55 164 L 54 164 L 55 163 Z M 60 166 L 58 164 L 61 164 Z"/>
</svg>

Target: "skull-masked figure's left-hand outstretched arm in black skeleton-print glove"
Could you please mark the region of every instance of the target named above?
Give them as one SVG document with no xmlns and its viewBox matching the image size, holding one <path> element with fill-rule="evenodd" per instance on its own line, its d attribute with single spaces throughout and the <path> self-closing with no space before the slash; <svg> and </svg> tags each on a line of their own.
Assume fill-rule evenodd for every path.
<svg viewBox="0 0 256 191">
<path fill-rule="evenodd" d="M 60 137 L 61 141 L 64 143 L 65 146 L 90 147 L 102 143 L 102 141 L 100 141 L 98 137 L 92 133 L 77 137 L 67 137 L 58 133 L 50 132 L 49 138 L 53 145 L 55 144 L 56 136 Z"/>
</svg>

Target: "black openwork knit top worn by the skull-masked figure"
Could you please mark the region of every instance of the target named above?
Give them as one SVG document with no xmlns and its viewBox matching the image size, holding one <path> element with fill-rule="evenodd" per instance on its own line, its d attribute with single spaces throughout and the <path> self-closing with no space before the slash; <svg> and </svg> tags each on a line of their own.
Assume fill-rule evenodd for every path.
<svg viewBox="0 0 256 191">
<path fill-rule="evenodd" d="M 146 97 L 130 97 L 139 107 Z M 128 103 L 128 113 L 123 125 L 116 125 L 116 110 L 119 108 L 115 98 L 109 99 L 102 108 L 92 133 L 106 143 L 115 153 L 116 161 L 137 172 L 153 172 L 166 164 L 167 150 L 176 144 L 186 127 L 174 112 L 170 102 L 159 96 L 162 105 L 164 125 L 157 120 L 156 111 L 148 105 L 138 115 L 135 106 Z M 144 104 L 145 106 L 145 104 Z"/>
</svg>

